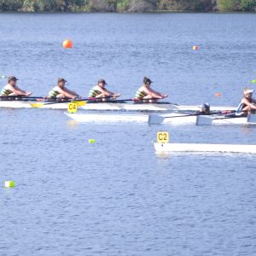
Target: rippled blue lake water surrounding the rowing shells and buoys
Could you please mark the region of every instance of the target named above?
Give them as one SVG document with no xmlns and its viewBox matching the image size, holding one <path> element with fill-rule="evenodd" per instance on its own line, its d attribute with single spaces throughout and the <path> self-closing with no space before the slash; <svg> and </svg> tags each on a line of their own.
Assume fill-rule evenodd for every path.
<svg viewBox="0 0 256 256">
<path fill-rule="evenodd" d="M 170 102 L 229 106 L 255 89 L 255 42 L 256 15 L 1 14 L 0 75 L 35 96 L 58 77 L 87 96 L 104 78 L 123 98 L 146 75 Z M 255 156 L 153 148 L 160 130 L 255 144 L 255 127 L 75 124 L 60 110 L 3 108 L 0 124 L 1 255 L 256 254 Z"/>
</svg>

